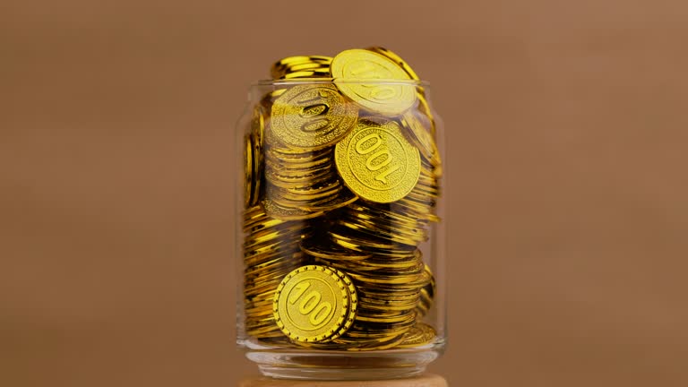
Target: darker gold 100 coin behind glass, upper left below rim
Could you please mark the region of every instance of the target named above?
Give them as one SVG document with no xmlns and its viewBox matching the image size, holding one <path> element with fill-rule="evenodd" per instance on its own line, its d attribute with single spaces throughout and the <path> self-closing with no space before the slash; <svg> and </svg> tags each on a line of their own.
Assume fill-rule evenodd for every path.
<svg viewBox="0 0 688 387">
<path fill-rule="evenodd" d="M 301 150 L 323 149 L 339 142 L 356 124 L 358 108 L 337 88 L 294 86 L 272 105 L 271 131 L 280 142 Z"/>
</svg>

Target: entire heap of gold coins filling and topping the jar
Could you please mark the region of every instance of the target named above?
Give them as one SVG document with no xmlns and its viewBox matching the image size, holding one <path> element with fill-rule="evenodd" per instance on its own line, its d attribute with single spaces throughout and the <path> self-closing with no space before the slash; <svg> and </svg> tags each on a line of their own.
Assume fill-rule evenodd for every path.
<svg viewBox="0 0 688 387">
<path fill-rule="evenodd" d="M 442 160 L 417 74 L 383 47 L 291 56 L 245 133 L 245 331 L 267 345 L 416 348 Z M 278 82 L 282 80 L 281 82 Z"/>
</svg>

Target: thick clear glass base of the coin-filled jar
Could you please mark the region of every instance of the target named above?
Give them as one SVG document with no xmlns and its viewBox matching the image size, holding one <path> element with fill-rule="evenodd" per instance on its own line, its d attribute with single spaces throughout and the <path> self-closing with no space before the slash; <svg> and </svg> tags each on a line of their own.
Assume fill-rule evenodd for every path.
<svg viewBox="0 0 688 387">
<path fill-rule="evenodd" d="M 421 374 L 439 353 L 434 349 L 364 352 L 249 350 L 261 374 L 280 379 L 376 380 Z"/>
</svg>

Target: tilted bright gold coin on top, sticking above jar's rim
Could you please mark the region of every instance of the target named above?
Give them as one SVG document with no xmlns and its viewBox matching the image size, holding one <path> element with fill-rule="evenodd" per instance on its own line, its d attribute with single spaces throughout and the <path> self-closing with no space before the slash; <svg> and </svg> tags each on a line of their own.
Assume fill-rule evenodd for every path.
<svg viewBox="0 0 688 387">
<path fill-rule="evenodd" d="M 350 49 L 332 59 L 332 78 L 341 92 L 362 107 L 386 115 L 400 115 L 416 102 L 416 85 L 389 57 L 366 49 Z M 366 83 L 365 81 L 375 81 Z M 384 82 L 388 81 L 388 82 Z"/>
</svg>

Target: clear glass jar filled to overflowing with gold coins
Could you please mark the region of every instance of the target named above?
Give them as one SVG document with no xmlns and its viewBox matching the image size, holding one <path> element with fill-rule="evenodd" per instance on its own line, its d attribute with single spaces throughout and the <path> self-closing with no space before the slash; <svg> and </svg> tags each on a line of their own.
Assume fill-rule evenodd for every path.
<svg viewBox="0 0 688 387">
<path fill-rule="evenodd" d="M 446 341 L 443 125 L 429 85 L 258 82 L 236 135 L 246 357 L 282 378 L 421 373 Z"/>
</svg>

